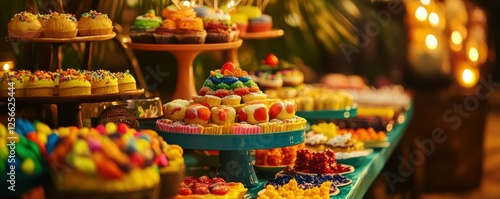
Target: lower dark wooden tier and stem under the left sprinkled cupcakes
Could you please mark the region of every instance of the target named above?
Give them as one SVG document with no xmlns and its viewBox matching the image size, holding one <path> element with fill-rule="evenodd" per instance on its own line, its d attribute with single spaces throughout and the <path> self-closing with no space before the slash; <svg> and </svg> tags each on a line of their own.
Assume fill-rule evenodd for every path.
<svg viewBox="0 0 500 199">
<path fill-rule="evenodd" d="M 80 104 L 94 102 L 111 102 L 139 98 L 144 89 L 125 91 L 113 94 L 91 94 L 76 96 L 45 96 L 16 97 L 16 104 L 57 104 L 58 126 L 83 127 Z M 7 97 L 0 97 L 2 102 L 8 102 Z"/>
</svg>

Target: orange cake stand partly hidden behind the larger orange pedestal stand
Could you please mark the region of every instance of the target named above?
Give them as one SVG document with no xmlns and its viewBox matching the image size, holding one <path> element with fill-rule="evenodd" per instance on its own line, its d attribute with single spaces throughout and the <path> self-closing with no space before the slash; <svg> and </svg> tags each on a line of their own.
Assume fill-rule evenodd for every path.
<svg viewBox="0 0 500 199">
<path fill-rule="evenodd" d="M 245 34 L 240 34 L 240 39 L 242 40 L 264 40 L 264 39 L 274 39 L 283 36 L 285 32 L 281 29 L 271 30 L 266 32 L 247 32 Z M 240 61 L 238 59 L 238 49 L 230 49 L 225 51 L 227 59 L 233 62 L 234 65 L 240 66 Z"/>
</svg>

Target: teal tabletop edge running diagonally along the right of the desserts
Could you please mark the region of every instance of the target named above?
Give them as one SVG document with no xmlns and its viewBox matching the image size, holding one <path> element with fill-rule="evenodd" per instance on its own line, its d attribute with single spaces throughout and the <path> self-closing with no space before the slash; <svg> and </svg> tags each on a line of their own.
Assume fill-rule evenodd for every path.
<svg viewBox="0 0 500 199">
<path fill-rule="evenodd" d="M 391 143 L 390 146 L 382 149 L 375 149 L 372 154 L 367 156 L 362 165 L 357 166 L 353 173 L 346 175 L 346 177 L 352 179 L 354 182 L 351 185 L 339 187 L 340 193 L 331 198 L 358 199 L 364 197 L 365 193 L 368 191 L 375 178 L 377 178 L 385 163 L 403 138 L 412 115 L 413 107 L 406 111 L 404 122 L 395 125 L 393 130 L 388 134 L 388 140 Z M 264 178 L 260 177 L 259 179 L 259 186 L 250 188 L 245 199 L 255 198 L 257 193 L 264 188 Z"/>
</svg>

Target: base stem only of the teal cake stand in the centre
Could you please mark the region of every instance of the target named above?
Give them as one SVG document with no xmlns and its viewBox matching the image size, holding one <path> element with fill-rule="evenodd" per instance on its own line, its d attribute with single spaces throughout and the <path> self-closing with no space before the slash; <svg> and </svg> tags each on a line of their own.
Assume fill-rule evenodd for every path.
<svg viewBox="0 0 500 199">
<path fill-rule="evenodd" d="M 248 150 L 220 151 L 217 176 L 228 182 L 241 182 L 247 188 L 259 183 Z"/>
</svg>

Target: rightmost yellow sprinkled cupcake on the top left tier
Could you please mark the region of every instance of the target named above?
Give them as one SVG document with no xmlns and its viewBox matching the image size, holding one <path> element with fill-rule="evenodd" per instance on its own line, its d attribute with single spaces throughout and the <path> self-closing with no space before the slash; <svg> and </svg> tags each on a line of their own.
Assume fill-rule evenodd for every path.
<svg viewBox="0 0 500 199">
<path fill-rule="evenodd" d="M 91 10 L 83 13 L 78 20 L 78 33 L 81 36 L 108 35 L 113 32 L 113 22 L 107 14 Z"/>
</svg>

